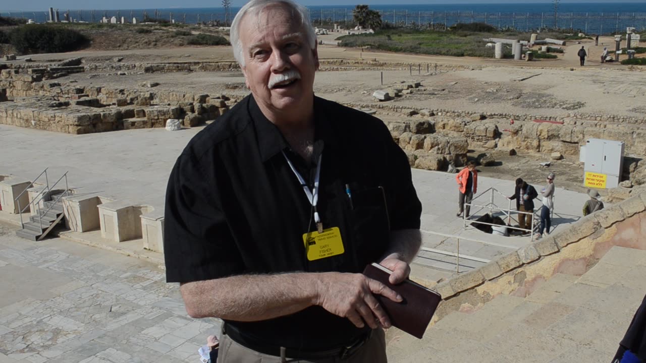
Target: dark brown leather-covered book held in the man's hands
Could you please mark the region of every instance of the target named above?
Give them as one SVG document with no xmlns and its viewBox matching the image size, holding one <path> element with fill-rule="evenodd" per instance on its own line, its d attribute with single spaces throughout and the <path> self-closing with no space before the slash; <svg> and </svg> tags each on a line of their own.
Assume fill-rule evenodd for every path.
<svg viewBox="0 0 646 363">
<path fill-rule="evenodd" d="M 379 264 L 368 265 L 364 270 L 364 275 L 382 282 L 404 298 L 402 302 L 394 302 L 386 296 L 375 295 L 390 317 L 391 324 L 421 339 L 442 296 L 410 279 L 404 280 L 401 284 L 390 284 L 388 278 L 391 273 L 392 271 Z"/>
</svg>

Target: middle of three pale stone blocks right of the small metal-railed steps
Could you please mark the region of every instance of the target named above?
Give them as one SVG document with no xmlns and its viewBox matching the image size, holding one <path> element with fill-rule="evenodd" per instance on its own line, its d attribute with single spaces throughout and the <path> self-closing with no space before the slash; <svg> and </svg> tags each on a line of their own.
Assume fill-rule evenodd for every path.
<svg viewBox="0 0 646 363">
<path fill-rule="evenodd" d="M 151 212 L 150 207 L 140 207 L 127 201 L 98 205 L 101 237 L 114 242 L 141 238 L 141 214 Z"/>
</svg>

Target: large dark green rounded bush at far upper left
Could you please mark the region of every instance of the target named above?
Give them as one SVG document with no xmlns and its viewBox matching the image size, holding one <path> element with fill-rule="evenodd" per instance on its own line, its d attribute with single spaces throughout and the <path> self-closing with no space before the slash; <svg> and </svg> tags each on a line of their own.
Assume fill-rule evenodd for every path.
<svg viewBox="0 0 646 363">
<path fill-rule="evenodd" d="M 10 33 L 10 40 L 20 54 L 71 52 L 90 42 L 76 30 L 38 24 L 19 26 Z"/>
</svg>

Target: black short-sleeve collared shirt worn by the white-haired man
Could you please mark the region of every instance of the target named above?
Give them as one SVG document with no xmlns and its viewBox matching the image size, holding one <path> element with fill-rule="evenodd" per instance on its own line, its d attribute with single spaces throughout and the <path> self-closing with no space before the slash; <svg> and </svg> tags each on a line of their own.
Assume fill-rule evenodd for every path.
<svg viewBox="0 0 646 363">
<path fill-rule="evenodd" d="M 386 252 L 390 231 L 419 229 L 421 203 L 410 165 L 384 123 L 321 98 L 315 98 L 314 115 L 315 156 L 308 161 L 291 152 L 252 96 L 194 136 L 167 187 L 167 282 L 293 271 L 360 273 Z M 322 155 L 317 209 L 325 228 L 339 227 L 343 254 L 307 260 L 302 236 L 316 229 L 312 207 L 284 154 L 310 184 Z M 367 329 L 318 306 L 227 324 L 250 340 L 293 349 L 341 346 Z"/>
</svg>

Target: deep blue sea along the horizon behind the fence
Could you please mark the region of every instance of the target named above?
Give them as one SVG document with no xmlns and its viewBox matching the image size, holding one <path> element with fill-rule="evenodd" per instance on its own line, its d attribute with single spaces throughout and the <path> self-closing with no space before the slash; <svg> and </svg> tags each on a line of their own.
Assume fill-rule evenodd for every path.
<svg viewBox="0 0 646 363">
<path fill-rule="evenodd" d="M 307 6 L 313 25 L 338 23 L 346 26 L 351 22 L 354 6 Z M 563 28 L 586 34 L 610 34 L 623 32 L 627 27 L 646 30 L 646 1 L 641 3 L 492 3 L 492 4 L 435 4 L 435 5 L 370 5 L 377 10 L 382 21 L 399 26 L 425 26 L 455 23 L 481 22 L 516 30 L 539 30 L 541 28 Z M 68 12 L 70 21 L 98 22 L 103 17 L 121 17 L 139 22 L 145 15 L 168 19 L 176 23 L 209 23 L 220 25 L 230 23 L 240 8 L 231 8 L 229 16 L 224 8 L 149 8 L 113 10 L 59 9 L 59 19 L 65 19 Z M 555 11 L 556 10 L 556 11 Z M 48 9 L 41 12 L 0 12 L 0 16 L 24 17 L 36 23 L 49 19 Z M 228 21 L 227 21 L 228 19 Z"/>
</svg>

